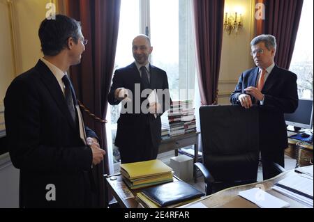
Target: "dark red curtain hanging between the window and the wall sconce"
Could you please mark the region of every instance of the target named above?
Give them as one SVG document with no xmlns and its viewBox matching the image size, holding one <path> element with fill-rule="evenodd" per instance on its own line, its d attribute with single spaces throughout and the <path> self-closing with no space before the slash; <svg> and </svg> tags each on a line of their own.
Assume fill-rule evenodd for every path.
<svg viewBox="0 0 314 222">
<path fill-rule="evenodd" d="M 224 5 L 224 0 L 193 0 L 197 79 L 202 105 L 217 103 Z"/>
</svg>

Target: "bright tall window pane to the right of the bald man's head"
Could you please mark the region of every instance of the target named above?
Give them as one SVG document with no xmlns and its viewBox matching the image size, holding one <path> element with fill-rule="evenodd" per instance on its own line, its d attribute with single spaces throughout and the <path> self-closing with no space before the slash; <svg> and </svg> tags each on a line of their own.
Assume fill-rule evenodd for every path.
<svg viewBox="0 0 314 222">
<path fill-rule="evenodd" d="M 195 65 L 189 0 L 151 0 L 151 63 L 167 72 L 172 100 L 192 99 Z"/>
</svg>

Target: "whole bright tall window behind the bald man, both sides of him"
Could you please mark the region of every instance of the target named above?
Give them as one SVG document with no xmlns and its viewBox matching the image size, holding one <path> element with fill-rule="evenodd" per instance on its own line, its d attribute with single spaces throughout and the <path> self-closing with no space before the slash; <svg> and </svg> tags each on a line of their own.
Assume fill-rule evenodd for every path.
<svg viewBox="0 0 314 222">
<path fill-rule="evenodd" d="M 133 63 L 132 40 L 148 34 L 151 63 L 167 72 L 172 100 L 193 100 L 195 85 L 194 44 L 189 0 L 121 0 L 119 36 L 114 70 Z M 121 106 L 108 106 L 114 142 Z M 107 125 L 110 129 L 110 125 Z M 114 163 L 119 151 L 112 144 Z"/>
</svg>

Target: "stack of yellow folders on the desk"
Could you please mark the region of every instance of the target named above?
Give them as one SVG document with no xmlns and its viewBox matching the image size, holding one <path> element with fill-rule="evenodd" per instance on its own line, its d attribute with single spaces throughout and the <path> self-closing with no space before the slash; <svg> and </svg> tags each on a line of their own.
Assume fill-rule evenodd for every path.
<svg viewBox="0 0 314 222">
<path fill-rule="evenodd" d="M 173 181 L 172 168 L 159 159 L 121 164 L 120 172 L 130 189 L 139 189 Z"/>
</svg>

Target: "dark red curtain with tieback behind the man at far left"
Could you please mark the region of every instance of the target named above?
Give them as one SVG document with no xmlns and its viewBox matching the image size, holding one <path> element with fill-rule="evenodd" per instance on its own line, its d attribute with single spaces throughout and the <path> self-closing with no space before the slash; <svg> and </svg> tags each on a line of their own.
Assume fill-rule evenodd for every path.
<svg viewBox="0 0 314 222">
<path fill-rule="evenodd" d="M 107 94 L 110 90 L 114 58 L 119 31 L 120 0 L 66 0 L 67 15 L 81 22 L 84 38 L 89 40 L 82 54 L 82 62 L 70 68 L 77 99 L 101 119 L 107 111 Z M 84 122 L 100 139 L 107 152 L 105 124 L 83 112 Z M 104 173 L 110 173 L 107 155 L 103 165 L 93 169 L 98 187 L 98 205 L 104 207 Z"/>
</svg>

